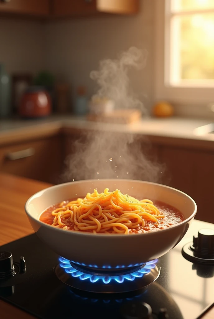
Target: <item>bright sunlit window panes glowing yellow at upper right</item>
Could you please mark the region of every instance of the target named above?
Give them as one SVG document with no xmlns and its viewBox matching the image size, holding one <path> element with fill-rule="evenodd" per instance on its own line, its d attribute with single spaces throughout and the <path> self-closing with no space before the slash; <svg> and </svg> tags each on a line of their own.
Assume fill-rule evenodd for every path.
<svg viewBox="0 0 214 319">
<path fill-rule="evenodd" d="M 175 86 L 214 85 L 214 0 L 171 0 L 166 8 L 166 80 Z"/>
</svg>

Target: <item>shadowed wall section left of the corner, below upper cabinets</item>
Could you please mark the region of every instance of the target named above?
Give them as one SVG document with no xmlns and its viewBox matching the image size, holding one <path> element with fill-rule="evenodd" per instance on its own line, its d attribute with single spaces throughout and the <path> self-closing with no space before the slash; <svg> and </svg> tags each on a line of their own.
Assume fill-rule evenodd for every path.
<svg viewBox="0 0 214 319">
<path fill-rule="evenodd" d="M 37 73 L 45 67 L 44 23 L 0 19 L 0 63 L 9 73 Z"/>
</svg>

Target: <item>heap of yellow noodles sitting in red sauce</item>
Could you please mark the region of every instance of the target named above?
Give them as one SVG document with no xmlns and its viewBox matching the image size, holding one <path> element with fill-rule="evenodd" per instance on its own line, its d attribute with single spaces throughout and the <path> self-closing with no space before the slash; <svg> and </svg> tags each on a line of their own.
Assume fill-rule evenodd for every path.
<svg viewBox="0 0 214 319">
<path fill-rule="evenodd" d="M 52 226 L 68 230 L 73 224 L 76 231 L 93 233 L 129 234 L 144 227 L 147 222 L 156 223 L 163 213 L 149 199 L 138 200 L 122 194 L 118 189 L 109 192 L 88 193 L 86 197 L 61 202 L 52 211 Z"/>
</svg>

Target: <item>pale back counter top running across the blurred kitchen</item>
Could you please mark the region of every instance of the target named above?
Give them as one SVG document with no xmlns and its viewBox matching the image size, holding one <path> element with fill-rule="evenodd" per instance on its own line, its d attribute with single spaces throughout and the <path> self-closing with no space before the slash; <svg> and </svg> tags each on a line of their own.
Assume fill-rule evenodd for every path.
<svg viewBox="0 0 214 319">
<path fill-rule="evenodd" d="M 109 124 L 87 121 L 84 117 L 51 116 L 42 120 L 1 120 L 0 145 L 14 143 L 26 138 L 45 137 L 59 131 L 69 130 L 111 130 L 120 133 L 133 133 L 150 137 L 156 143 L 164 142 L 182 146 L 214 149 L 214 134 L 196 135 L 197 127 L 209 124 L 209 120 L 194 120 L 185 118 L 144 118 L 130 124 Z"/>
</svg>

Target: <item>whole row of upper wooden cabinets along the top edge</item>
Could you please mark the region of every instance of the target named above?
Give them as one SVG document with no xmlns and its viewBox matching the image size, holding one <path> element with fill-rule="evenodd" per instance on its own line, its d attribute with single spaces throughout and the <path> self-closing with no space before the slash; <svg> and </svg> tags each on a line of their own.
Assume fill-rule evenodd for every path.
<svg viewBox="0 0 214 319">
<path fill-rule="evenodd" d="M 134 14 L 139 0 L 0 0 L 0 14 L 72 18 L 100 13 Z"/>
</svg>

